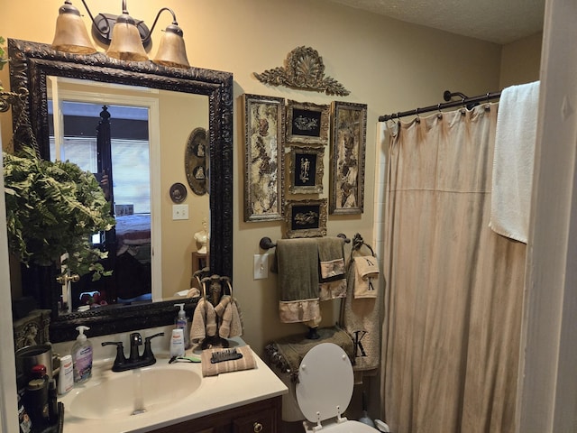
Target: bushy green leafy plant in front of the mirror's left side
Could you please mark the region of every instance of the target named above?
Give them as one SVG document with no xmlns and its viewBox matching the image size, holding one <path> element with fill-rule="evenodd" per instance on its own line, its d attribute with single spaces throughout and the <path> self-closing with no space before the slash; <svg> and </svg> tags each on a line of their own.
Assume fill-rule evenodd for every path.
<svg viewBox="0 0 577 433">
<path fill-rule="evenodd" d="M 114 226 L 110 203 L 96 177 L 69 161 L 38 159 L 30 147 L 17 155 L 3 152 L 6 220 L 11 253 L 28 265 L 60 263 L 71 273 L 93 273 L 93 280 L 112 272 L 101 260 L 91 236 Z"/>
</svg>

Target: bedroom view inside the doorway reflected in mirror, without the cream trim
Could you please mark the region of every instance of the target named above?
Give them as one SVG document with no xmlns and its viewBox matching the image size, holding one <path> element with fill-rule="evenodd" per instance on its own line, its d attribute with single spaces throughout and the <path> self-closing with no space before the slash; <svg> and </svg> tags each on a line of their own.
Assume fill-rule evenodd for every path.
<svg viewBox="0 0 577 433">
<path fill-rule="evenodd" d="M 116 225 L 95 234 L 93 246 L 108 253 L 103 265 L 112 275 L 62 287 L 62 312 L 151 300 L 151 176 L 148 107 L 67 100 L 53 122 L 49 100 L 50 159 L 72 161 L 95 173 L 111 201 Z M 104 105 L 103 105 L 104 104 Z M 59 124 L 61 120 L 61 124 Z M 57 124 L 55 128 L 54 125 Z M 59 140 L 54 130 L 60 131 Z"/>
</svg>

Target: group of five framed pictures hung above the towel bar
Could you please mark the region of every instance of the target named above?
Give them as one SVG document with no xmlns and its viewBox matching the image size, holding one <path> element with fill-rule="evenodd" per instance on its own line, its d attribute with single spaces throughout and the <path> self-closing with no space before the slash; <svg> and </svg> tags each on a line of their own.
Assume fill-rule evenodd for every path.
<svg viewBox="0 0 577 433">
<path fill-rule="evenodd" d="M 327 215 L 362 214 L 366 124 L 364 104 L 243 95 L 244 221 L 284 221 L 285 237 L 316 237 Z"/>
</svg>

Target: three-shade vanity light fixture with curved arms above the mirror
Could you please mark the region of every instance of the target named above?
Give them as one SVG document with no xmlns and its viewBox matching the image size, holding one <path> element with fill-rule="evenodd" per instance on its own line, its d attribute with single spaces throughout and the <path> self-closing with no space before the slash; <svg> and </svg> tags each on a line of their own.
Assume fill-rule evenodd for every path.
<svg viewBox="0 0 577 433">
<path fill-rule="evenodd" d="M 123 13 L 120 15 L 97 14 L 96 17 L 88 9 L 85 0 L 82 4 L 87 9 L 87 13 L 92 21 L 92 34 L 96 40 L 105 45 L 109 45 L 106 55 L 119 60 L 145 61 L 148 54 L 145 48 L 151 44 L 151 33 L 159 20 L 160 14 L 169 11 L 172 14 L 172 23 L 166 28 L 160 39 L 159 50 L 153 62 L 175 68 L 189 68 L 187 51 L 185 48 L 183 32 L 177 23 L 174 12 L 168 7 L 160 9 L 152 27 L 149 30 L 141 20 L 135 20 L 126 8 L 126 0 L 123 0 Z M 87 38 L 86 27 L 84 26 L 78 9 L 74 7 L 70 0 L 65 0 L 60 7 L 59 18 L 56 22 L 56 33 L 52 47 L 55 50 L 69 51 L 75 53 L 94 53 L 94 47 Z M 72 26 L 69 23 L 75 23 Z M 79 25 L 82 24 L 82 25 Z M 86 37 L 82 37 L 86 34 Z M 82 42 L 77 42 L 80 39 Z M 79 51 L 80 47 L 92 47 L 92 51 Z"/>
</svg>

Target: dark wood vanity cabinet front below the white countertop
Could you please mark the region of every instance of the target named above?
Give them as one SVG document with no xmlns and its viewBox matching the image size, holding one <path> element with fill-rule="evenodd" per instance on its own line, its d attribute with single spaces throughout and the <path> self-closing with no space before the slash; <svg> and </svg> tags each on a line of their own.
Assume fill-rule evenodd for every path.
<svg viewBox="0 0 577 433">
<path fill-rule="evenodd" d="M 190 419 L 152 433 L 279 433 L 282 397 Z"/>
</svg>

